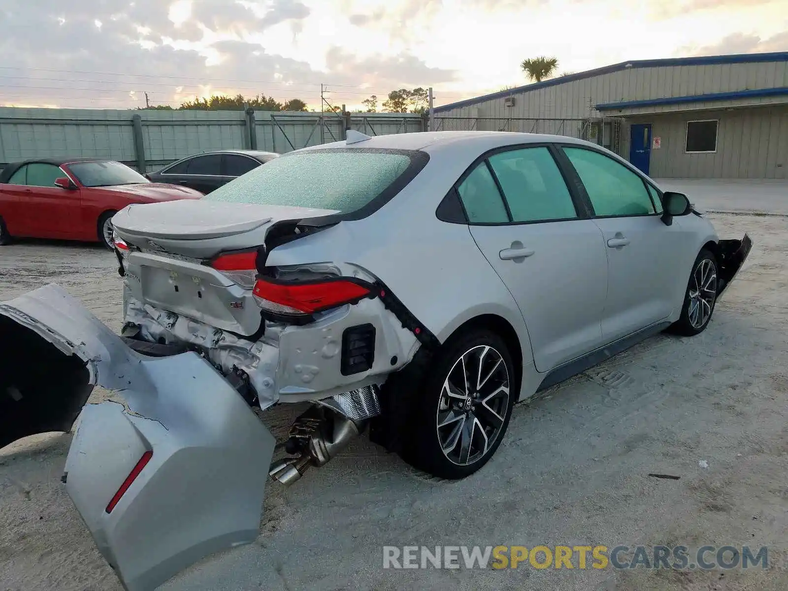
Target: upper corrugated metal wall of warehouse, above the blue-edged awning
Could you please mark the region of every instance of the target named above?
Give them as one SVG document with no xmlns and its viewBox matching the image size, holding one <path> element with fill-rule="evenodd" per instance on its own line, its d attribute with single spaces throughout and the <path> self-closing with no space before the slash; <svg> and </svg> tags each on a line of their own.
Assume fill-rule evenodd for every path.
<svg viewBox="0 0 788 591">
<path fill-rule="evenodd" d="M 601 103 L 782 86 L 788 86 L 788 61 L 633 68 L 514 94 L 512 107 L 505 106 L 505 98 L 500 97 L 456 109 L 439 107 L 437 114 L 440 117 L 598 117 L 601 113 L 593 106 Z"/>
</svg>

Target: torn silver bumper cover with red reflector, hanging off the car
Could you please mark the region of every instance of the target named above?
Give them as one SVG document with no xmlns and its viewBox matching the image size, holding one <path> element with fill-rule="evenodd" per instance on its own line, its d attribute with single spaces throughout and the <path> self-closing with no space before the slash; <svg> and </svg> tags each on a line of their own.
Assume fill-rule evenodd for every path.
<svg viewBox="0 0 788 591">
<path fill-rule="evenodd" d="M 139 355 L 55 285 L 0 304 L 0 316 L 80 359 L 87 383 L 123 399 L 84 407 L 64 480 L 125 589 L 154 589 L 255 540 L 275 441 L 209 362 Z M 84 392 L 63 395 L 78 403 Z"/>
</svg>

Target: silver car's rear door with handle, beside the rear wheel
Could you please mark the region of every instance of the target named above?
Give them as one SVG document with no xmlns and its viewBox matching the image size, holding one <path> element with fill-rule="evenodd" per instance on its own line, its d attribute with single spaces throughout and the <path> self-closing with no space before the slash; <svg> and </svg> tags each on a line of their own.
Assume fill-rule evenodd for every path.
<svg viewBox="0 0 788 591">
<path fill-rule="evenodd" d="M 602 234 L 554 150 L 489 154 L 456 188 L 470 233 L 520 308 L 540 372 L 600 346 L 607 290 Z"/>
</svg>

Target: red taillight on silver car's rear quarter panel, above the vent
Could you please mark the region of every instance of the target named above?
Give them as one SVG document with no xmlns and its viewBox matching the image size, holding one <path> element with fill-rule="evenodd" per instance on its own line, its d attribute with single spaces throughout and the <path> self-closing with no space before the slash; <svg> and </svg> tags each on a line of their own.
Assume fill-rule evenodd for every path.
<svg viewBox="0 0 788 591">
<path fill-rule="evenodd" d="M 301 315 L 355 303 L 372 295 L 372 286 L 347 279 L 316 283 L 278 283 L 259 278 L 255 301 L 277 314 Z"/>
</svg>

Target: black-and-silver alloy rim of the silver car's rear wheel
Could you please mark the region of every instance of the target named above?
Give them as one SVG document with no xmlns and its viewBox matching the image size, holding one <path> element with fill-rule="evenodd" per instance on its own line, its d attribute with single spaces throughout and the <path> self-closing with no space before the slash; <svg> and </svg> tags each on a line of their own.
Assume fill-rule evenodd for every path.
<svg viewBox="0 0 788 591">
<path fill-rule="evenodd" d="M 478 345 L 457 359 L 437 410 L 438 441 L 449 461 L 468 466 L 485 456 L 504 426 L 509 386 L 509 370 L 495 348 Z"/>
</svg>

